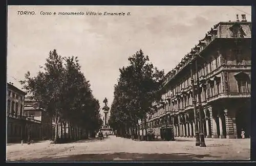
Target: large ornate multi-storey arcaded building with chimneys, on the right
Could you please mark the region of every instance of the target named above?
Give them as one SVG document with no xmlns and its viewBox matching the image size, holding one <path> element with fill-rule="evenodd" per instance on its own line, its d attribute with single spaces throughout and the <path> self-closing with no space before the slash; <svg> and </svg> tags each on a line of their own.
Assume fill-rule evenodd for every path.
<svg viewBox="0 0 256 166">
<path fill-rule="evenodd" d="M 241 21 L 237 15 L 237 21 L 219 22 L 211 28 L 165 76 L 162 102 L 147 121 L 156 135 L 161 127 L 171 125 L 175 136 L 195 136 L 199 123 L 195 124 L 191 75 L 197 113 L 201 97 L 205 137 L 241 138 L 241 130 L 250 137 L 251 22 L 245 15 Z"/>
</svg>

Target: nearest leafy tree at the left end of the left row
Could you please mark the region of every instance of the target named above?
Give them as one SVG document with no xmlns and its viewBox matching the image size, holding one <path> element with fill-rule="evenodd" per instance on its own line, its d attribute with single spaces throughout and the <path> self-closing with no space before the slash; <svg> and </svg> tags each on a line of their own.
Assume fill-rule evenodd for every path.
<svg viewBox="0 0 256 166">
<path fill-rule="evenodd" d="M 24 88 L 32 94 L 40 108 L 45 109 L 59 123 L 63 110 L 61 109 L 61 94 L 64 80 L 63 58 L 54 50 L 50 51 L 46 59 L 45 72 L 38 72 L 36 77 L 30 78 L 30 72 L 25 75 L 25 81 L 20 81 Z M 57 125 L 55 125 L 55 139 Z"/>
</svg>

